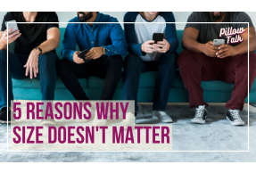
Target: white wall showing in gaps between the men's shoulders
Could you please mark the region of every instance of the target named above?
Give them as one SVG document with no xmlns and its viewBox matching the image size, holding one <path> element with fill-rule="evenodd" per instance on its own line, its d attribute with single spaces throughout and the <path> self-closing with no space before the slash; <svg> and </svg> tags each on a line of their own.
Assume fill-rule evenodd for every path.
<svg viewBox="0 0 256 173">
<path fill-rule="evenodd" d="M 2 24 L 2 21 L 4 19 L 4 15 L 6 12 L 0 12 L 0 22 Z M 103 12 L 105 14 L 109 14 L 115 18 L 118 19 L 118 21 L 122 22 L 123 17 L 126 12 Z M 188 16 L 191 14 L 191 12 L 173 12 L 175 19 L 177 22 L 186 22 Z M 248 15 L 252 19 L 252 23 L 256 28 L 256 12 L 247 12 Z M 57 12 L 59 21 L 60 22 L 68 22 L 70 19 L 77 16 L 77 12 Z M 60 27 L 66 27 L 67 24 L 60 24 Z M 122 25 L 123 26 L 123 25 Z M 176 24 L 177 29 L 184 29 L 185 24 Z"/>
</svg>

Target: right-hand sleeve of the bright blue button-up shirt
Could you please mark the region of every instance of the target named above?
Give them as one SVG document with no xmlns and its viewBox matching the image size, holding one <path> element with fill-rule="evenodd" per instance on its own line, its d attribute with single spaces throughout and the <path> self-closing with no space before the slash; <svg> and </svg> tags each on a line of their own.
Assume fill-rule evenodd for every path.
<svg viewBox="0 0 256 173">
<path fill-rule="evenodd" d="M 111 21 L 117 23 L 111 23 L 110 25 L 110 37 L 111 37 L 111 45 L 104 45 L 103 47 L 106 49 L 106 55 L 124 55 L 127 54 L 128 44 L 125 40 L 125 35 L 123 29 L 120 26 L 119 21 Z"/>
</svg>

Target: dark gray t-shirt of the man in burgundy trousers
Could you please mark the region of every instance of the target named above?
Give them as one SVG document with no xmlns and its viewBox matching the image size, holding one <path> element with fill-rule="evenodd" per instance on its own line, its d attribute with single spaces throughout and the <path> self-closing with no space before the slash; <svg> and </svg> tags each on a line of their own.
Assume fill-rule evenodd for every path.
<svg viewBox="0 0 256 173">
<path fill-rule="evenodd" d="M 204 14 L 204 12 L 192 12 L 187 20 L 187 22 L 215 22 L 213 21 L 212 17 L 210 16 L 210 21 L 207 20 L 207 16 Z M 253 27 L 252 24 L 252 20 L 251 18 L 248 16 L 247 13 L 245 12 L 230 12 L 230 17 L 228 19 L 228 15 L 226 14 L 224 20 L 222 22 L 249 22 L 249 27 Z M 246 29 L 248 28 L 248 24 L 247 23 L 221 23 L 220 24 L 215 24 L 215 23 L 186 23 L 186 28 L 192 27 L 194 29 L 198 29 L 199 30 L 199 35 L 197 38 L 197 41 L 199 43 L 205 44 L 207 42 L 213 41 L 213 39 L 225 39 L 225 44 L 227 44 L 227 37 L 224 35 L 222 35 L 222 37 L 219 37 L 220 34 L 220 30 L 222 31 L 222 33 L 228 31 L 229 28 L 229 32 L 233 29 Z M 233 35 L 229 38 L 229 43 L 228 45 L 239 45 L 241 42 L 235 43 L 235 41 L 233 41 L 233 43 L 231 43 L 231 39 L 232 37 L 233 40 L 235 39 L 235 37 L 239 37 L 239 34 Z M 237 38 L 236 38 L 237 40 Z"/>
</svg>

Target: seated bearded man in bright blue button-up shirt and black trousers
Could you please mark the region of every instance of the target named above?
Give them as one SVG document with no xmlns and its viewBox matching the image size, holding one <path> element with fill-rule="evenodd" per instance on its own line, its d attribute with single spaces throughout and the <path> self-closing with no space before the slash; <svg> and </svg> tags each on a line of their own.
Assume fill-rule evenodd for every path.
<svg viewBox="0 0 256 173">
<path fill-rule="evenodd" d="M 69 23 L 65 31 L 62 42 L 63 59 L 57 64 L 57 72 L 76 100 L 89 100 L 78 78 L 105 78 L 100 99 L 111 100 L 121 77 L 121 55 L 127 54 L 128 49 L 123 29 L 120 23 L 113 23 L 119 21 L 109 15 L 100 12 L 77 13 L 78 17 L 69 22 L 78 23 Z M 78 57 L 77 44 L 80 51 L 89 51 L 86 59 L 91 60 L 90 62 L 84 62 Z M 100 119 L 94 121 L 94 125 L 103 126 L 105 123 L 105 120 Z"/>
</svg>

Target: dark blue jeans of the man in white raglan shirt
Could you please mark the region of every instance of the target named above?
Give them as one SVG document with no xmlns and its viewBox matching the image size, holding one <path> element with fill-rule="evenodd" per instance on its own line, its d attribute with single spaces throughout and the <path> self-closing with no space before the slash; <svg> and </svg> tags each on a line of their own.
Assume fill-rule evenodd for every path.
<svg viewBox="0 0 256 173">
<path fill-rule="evenodd" d="M 144 62 L 135 54 L 128 54 L 124 62 L 123 100 L 135 100 L 135 111 L 138 112 L 137 93 L 140 73 L 159 71 L 153 97 L 153 111 L 165 111 L 169 90 L 175 78 L 178 54 L 162 54 L 156 62 Z"/>
</svg>

